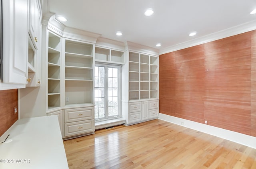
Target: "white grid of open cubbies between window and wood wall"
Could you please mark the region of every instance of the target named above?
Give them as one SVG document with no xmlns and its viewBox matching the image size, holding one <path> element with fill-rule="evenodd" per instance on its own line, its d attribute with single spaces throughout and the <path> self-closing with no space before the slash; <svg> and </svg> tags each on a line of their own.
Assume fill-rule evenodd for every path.
<svg viewBox="0 0 256 169">
<path fill-rule="evenodd" d="M 129 52 L 129 100 L 158 98 L 158 57 Z"/>
</svg>

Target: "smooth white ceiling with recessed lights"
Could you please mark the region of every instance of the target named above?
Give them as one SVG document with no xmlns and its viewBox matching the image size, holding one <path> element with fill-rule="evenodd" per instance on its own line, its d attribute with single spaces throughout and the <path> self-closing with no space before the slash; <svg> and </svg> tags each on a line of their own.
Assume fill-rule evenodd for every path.
<svg viewBox="0 0 256 169">
<path fill-rule="evenodd" d="M 144 16 L 147 8 L 154 15 Z M 158 49 L 252 22 L 255 8 L 256 0 L 48 0 L 48 11 L 68 19 L 65 26 Z"/>
</svg>

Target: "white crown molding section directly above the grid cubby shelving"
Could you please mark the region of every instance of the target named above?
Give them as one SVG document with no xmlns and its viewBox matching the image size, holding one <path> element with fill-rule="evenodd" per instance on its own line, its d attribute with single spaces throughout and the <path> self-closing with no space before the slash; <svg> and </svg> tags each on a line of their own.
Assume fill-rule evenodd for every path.
<svg viewBox="0 0 256 169">
<path fill-rule="evenodd" d="M 155 55 L 155 56 L 159 55 L 159 49 L 141 45 L 134 42 L 130 42 L 130 41 L 126 41 L 125 48 L 126 48 L 125 50 L 129 50 L 129 51 L 135 51 L 135 52 L 140 52 L 140 53 L 145 53 L 145 54 Z"/>
</svg>

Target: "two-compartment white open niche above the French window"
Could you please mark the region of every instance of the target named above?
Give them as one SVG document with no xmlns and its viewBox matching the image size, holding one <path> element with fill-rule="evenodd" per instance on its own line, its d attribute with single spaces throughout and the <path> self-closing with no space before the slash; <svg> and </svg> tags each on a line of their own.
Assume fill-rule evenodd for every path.
<svg viewBox="0 0 256 169">
<path fill-rule="evenodd" d="M 124 65 L 124 51 L 96 46 L 95 61 Z"/>
</svg>

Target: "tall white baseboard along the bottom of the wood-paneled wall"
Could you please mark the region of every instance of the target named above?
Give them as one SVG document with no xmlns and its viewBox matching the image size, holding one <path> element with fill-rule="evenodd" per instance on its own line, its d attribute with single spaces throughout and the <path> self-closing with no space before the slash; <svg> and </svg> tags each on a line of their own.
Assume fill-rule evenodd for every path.
<svg viewBox="0 0 256 169">
<path fill-rule="evenodd" d="M 256 149 L 256 137 L 248 136 L 246 134 L 241 134 L 238 132 L 233 132 L 230 130 L 225 130 L 222 128 L 217 128 L 214 126 L 209 126 L 209 125 L 198 123 L 198 122 L 193 122 L 190 120 L 186 120 L 186 119 L 182 119 L 174 116 L 169 116 L 162 113 L 159 113 L 158 119 L 164 120 L 166 122 L 174 123 L 180 126 L 184 126 L 186 128 L 190 128 L 193 130 L 197 130 L 200 132 L 204 132 L 206 134 L 210 134 L 219 138 L 230 140 L 230 141 Z"/>
</svg>

